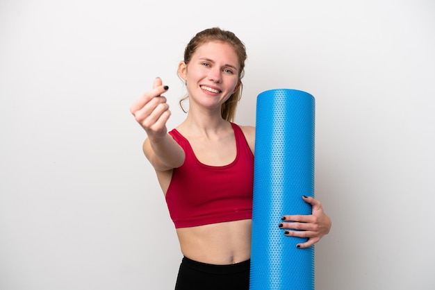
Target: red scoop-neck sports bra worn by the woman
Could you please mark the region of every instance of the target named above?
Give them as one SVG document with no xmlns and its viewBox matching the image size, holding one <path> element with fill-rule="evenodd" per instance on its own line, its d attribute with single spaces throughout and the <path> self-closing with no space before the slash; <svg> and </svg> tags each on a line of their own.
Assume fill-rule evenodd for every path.
<svg viewBox="0 0 435 290">
<path fill-rule="evenodd" d="M 214 167 L 197 160 L 188 139 L 176 129 L 170 135 L 186 159 L 174 168 L 166 203 L 175 228 L 252 219 L 254 154 L 243 131 L 234 123 L 237 155 L 230 164 Z"/>
</svg>

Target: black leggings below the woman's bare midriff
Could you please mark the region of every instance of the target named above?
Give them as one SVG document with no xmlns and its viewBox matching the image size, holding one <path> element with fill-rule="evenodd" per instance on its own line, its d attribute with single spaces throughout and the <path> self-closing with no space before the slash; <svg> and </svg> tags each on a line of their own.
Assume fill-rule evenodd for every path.
<svg viewBox="0 0 435 290">
<path fill-rule="evenodd" d="M 249 290 L 251 261 L 213 265 L 183 257 L 175 290 Z"/>
</svg>

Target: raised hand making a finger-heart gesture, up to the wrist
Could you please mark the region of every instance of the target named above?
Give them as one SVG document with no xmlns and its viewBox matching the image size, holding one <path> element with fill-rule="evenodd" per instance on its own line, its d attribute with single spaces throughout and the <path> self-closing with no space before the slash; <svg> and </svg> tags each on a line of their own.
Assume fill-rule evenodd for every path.
<svg viewBox="0 0 435 290">
<path fill-rule="evenodd" d="M 167 133 L 166 122 L 171 112 L 165 96 L 162 96 L 167 89 L 167 86 L 162 85 L 161 78 L 156 78 L 153 88 L 131 105 L 131 114 L 145 129 L 149 139 L 159 139 Z"/>
</svg>

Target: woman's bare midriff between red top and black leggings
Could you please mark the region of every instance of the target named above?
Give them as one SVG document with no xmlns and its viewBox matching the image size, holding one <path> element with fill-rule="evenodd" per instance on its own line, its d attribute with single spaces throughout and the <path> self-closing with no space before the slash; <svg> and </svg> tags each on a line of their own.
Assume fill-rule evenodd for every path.
<svg viewBox="0 0 435 290">
<path fill-rule="evenodd" d="M 227 265 L 249 259 L 250 219 L 177 228 L 181 253 L 197 262 Z"/>
</svg>

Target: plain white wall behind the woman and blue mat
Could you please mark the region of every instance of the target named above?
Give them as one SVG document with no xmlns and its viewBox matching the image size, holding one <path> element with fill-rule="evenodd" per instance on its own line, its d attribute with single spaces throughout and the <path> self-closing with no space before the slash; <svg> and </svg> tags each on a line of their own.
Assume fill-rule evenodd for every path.
<svg viewBox="0 0 435 290">
<path fill-rule="evenodd" d="M 247 46 L 236 121 L 256 96 L 316 99 L 315 195 L 333 228 L 316 289 L 435 289 L 435 2 L 0 2 L 0 289 L 173 289 L 181 259 L 145 132 L 156 76 L 168 127 L 195 33 Z"/>
</svg>

